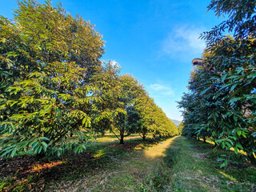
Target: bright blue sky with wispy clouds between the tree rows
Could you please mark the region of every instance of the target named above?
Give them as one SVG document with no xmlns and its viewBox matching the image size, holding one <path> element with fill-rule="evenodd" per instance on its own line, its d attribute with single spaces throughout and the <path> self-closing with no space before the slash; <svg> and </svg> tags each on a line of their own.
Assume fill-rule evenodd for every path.
<svg viewBox="0 0 256 192">
<path fill-rule="evenodd" d="M 38 2 L 44 2 L 38 0 Z M 53 0 L 53 5 L 59 1 Z M 193 58 L 205 43 L 199 35 L 222 22 L 206 13 L 210 0 L 62 0 L 71 15 L 95 25 L 106 41 L 102 59 L 133 74 L 167 117 L 182 120 L 177 102 L 186 92 Z M 16 0 L 1 0 L 0 14 L 12 18 Z"/>
</svg>

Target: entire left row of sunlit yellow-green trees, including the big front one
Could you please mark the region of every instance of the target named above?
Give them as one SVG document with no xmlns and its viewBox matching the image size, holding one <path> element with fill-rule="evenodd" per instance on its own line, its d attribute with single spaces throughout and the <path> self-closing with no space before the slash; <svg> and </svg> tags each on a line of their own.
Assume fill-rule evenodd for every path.
<svg viewBox="0 0 256 192">
<path fill-rule="evenodd" d="M 177 128 L 132 76 L 102 63 L 94 26 L 50 1 L 18 2 L 0 18 L 0 155 L 86 149 L 90 133 L 174 135 Z M 69 139 L 73 135 L 74 139 Z"/>
</svg>

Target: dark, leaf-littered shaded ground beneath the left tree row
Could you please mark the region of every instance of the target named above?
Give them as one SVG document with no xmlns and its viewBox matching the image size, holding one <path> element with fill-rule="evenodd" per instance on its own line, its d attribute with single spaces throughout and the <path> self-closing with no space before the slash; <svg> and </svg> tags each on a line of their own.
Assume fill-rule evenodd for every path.
<svg viewBox="0 0 256 192">
<path fill-rule="evenodd" d="M 101 170 L 115 170 L 123 159 L 133 152 L 157 145 L 167 138 L 131 138 L 125 144 L 118 141 L 92 143 L 82 154 L 72 152 L 62 158 L 42 158 L 20 156 L 0 162 L 0 190 L 41 191 L 51 182 L 67 182 L 98 174 Z"/>
</svg>

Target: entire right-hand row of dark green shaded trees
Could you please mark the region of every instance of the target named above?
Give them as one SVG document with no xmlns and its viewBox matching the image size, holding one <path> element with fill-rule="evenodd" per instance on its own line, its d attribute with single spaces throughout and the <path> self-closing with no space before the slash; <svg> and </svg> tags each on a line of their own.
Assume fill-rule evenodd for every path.
<svg viewBox="0 0 256 192">
<path fill-rule="evenodd" d="M 213 0 L 208 7 L 228 19 L 202 34 L 207 47 L 179 106 L 183 134 L 210 138 L 223 149 L 244 150 L 256 163 L 256 1 Z M 223 33 L 228 30 L 234 36 Z M 226 162 L 224 163 L 226 164 Z"/>
</svg>

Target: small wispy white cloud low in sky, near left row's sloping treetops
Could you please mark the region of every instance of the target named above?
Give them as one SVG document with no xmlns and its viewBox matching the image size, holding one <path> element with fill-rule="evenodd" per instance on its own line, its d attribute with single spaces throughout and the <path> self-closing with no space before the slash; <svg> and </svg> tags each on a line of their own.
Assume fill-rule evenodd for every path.
<svg viewBox="0 0 256 192">
<path fill-rule="evenodd" d="M 150 94 L 153 94 L 156 97 L 168 96 L 168 95 L 174 94 L 174 90 L 172 90 L 170 86 L 166 86 L 158 83 L 150 84 L 148 90 L 150 91 Z"/>
</svg>

